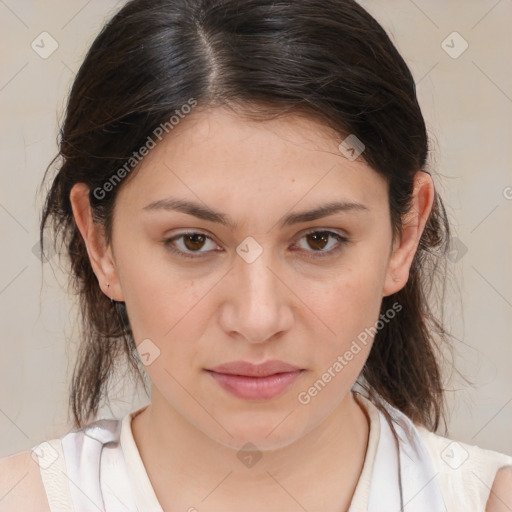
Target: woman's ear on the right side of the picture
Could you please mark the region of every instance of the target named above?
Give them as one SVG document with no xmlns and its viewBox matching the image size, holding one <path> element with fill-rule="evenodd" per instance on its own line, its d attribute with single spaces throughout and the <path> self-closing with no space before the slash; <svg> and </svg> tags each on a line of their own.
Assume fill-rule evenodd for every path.
<svg viewBox="0 0 512 512">
<path fill-rule="evenodd" d="M 423 229 L 434 202 L 434 183 L 430 174 L 418 171 L 414 176 L 410 211 L 402 218 L 402 235 L 395 240 L 388 262 L 382 296 L 401 290 L 409 279 L 409 270 L 416 254 Z"/>
</svg>

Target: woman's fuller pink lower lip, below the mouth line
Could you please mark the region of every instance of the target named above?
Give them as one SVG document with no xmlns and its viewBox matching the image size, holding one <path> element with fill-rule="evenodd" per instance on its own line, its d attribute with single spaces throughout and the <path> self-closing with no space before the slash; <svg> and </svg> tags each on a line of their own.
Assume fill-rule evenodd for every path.
<svg viewBox="0 0 512 512">
<path fill-rule="evenodd" d="M 218 384 L 231 394 L 244 400 L 269 400 L 292 385 L 303 370 L 276 373 L 268 377 L 245 377 L 209 371 Z"/>
</svg>

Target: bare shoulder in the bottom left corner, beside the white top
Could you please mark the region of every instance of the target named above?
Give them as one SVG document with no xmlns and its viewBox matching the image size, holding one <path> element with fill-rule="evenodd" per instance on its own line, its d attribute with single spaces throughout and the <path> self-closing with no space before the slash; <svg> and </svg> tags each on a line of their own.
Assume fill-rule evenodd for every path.
<svg viewBox="0 0 512 512">
<path fill-rule="evenodd" d="M 0 512 L 50 512 L 36 460 L 32 451 L 0 458 Z"/>
</svg>

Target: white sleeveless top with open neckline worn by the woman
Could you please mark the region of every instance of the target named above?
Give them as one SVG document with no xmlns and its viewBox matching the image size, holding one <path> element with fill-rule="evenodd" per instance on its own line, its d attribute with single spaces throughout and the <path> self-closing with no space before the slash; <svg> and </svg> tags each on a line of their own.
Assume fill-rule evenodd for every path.
<svg viewBox="0 0 512 512">
<path fill-rule="evenodd" d="M 370 435 L 349 512 L 485 509 L 496 472 L 512 457 L 433 434 L 387 404 L 391 429 L 372 402 L 356 397 L 368 411 Z M 131 430 L 146 407 L 32 449 L 51 512 L 163 512 Z"/>
</svg>

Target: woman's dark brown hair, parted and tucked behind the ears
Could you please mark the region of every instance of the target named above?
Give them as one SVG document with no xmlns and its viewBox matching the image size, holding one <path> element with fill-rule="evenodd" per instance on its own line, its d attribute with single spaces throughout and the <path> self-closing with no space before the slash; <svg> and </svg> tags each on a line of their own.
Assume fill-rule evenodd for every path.
<svg viewBox="0 0 512 512">
<path fill-rule="evenodd" d="M 72 85 L 59 132 L 59 168 L 40 224 L 65 247 L 82 332 L 70 387 L 75 427 L 94 417 L 116 364 L 144 382 L 126 306 L 98 286 L 70 204 L 85 183 L 94 221 L 111 243 L 123 186 L 107 187 L 170 116 L 191 99 L 247 119 L 303 114 L 363 142 L 360 158 L 386 178 L 393 238 L 427 168 L 429 139 L 412 74 L 385 30 L 353 0 L 131 0 L 103 27 Z M 166 130 L 168 131 L 168 130 Z M 126 169 L 126 167 L 125 167 Z M 130 176 L 133 176 L 132 171 Z M 118 174 L 119 176 L 119 174 Z M 102 190 L 101 198 L 94 191 Z M 373 342 L 361 382 L 430 430 L 444 418 L 441 346 L 448 340 L 430 304 L 444 282 L 450 227 L 437 191 L 406 285 L 384 297 L 402 306 Z M 146 390 L 147 391 L 147 390 Z"/>
</svg>

